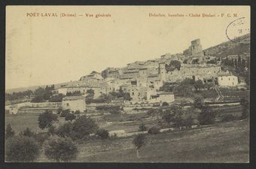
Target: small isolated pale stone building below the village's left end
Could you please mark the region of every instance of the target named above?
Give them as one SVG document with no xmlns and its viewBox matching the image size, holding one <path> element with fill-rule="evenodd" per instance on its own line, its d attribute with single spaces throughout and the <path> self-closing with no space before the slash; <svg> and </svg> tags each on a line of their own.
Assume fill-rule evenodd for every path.
<svg viewBox="0 0 256 169">
<path fill-rule="evenodd" d="M 84 96 L 67 96 L 62 98 L 62 109 L 84 112 L 86 110 L 86 103 Z"/>
</svg>

